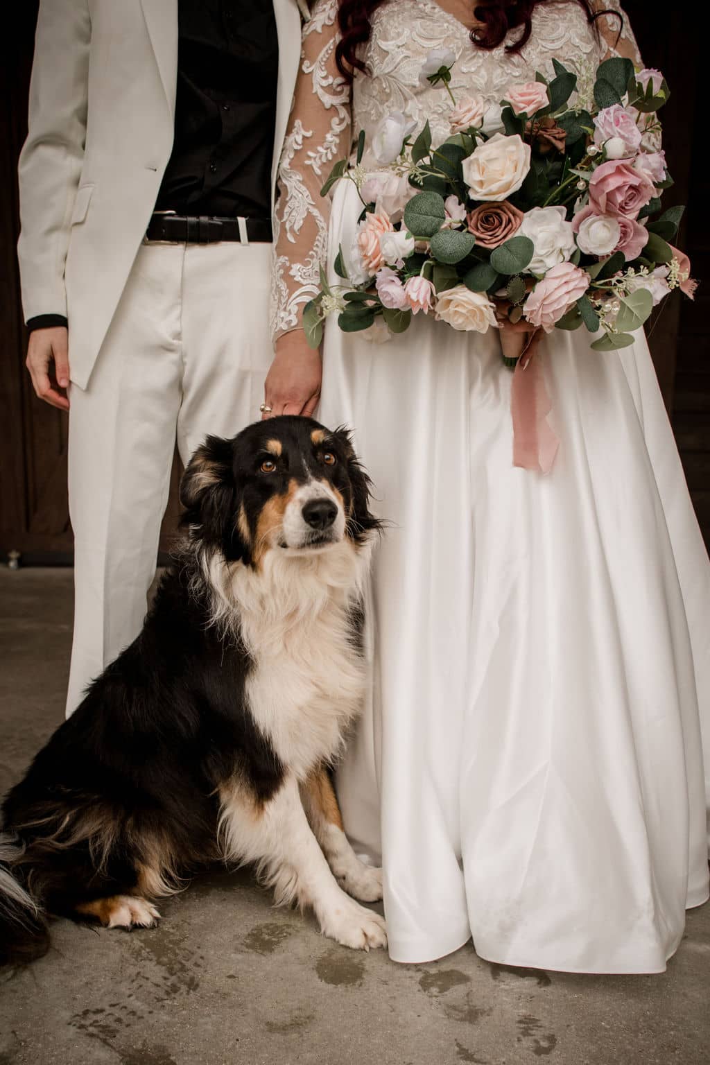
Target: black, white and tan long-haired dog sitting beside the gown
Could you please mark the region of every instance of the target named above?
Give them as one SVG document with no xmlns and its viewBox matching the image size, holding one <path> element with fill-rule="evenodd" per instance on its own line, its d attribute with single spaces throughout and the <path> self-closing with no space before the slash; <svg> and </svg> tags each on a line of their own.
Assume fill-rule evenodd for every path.
<svg viewBox="0 0 710 1065">
<path fill-rule="evenodd" d="M 3 804 L 0 961 L 47 917 L 149 927 L 215 859 L 367 950 L 380 870 L 350 848 L 330 768 L 364 688 L 362 587 L 379 522 L 343 430 L 277 417 L 211 437 L 181 486 L 184 537 L 137 639 Z M 347 894 L 346 894 L 347 892 Z"/>
</svg>

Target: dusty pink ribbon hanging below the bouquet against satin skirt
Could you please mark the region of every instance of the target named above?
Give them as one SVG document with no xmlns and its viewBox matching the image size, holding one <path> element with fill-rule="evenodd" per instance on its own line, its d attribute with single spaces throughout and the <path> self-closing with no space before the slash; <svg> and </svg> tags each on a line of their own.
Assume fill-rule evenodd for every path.
<svg viewBox="0 0 710 1065">
<path fill-rule="evenodd" d="M 540 359 L 535 358 L 540 339 L 540 332 L 532 334 L 513 373 L 510 399 L 513 415 L 513 465 L 549 473 L 560 441 L 547 420 L 552 405 L 545 388 Z"/>
</svg>

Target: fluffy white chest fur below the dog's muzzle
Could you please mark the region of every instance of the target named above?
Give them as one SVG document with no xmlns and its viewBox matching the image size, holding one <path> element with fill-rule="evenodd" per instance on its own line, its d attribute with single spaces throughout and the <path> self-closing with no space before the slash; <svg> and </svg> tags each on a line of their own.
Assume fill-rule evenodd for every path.
<svg viewBox="0 0 710 1065">
<path fill-rule="evenodd" d="M 365 667 L 349 612 L 368 556 L 367 547 L 344 541 L 306 558 L 270 552 L 261 573 L 238 567 L 232 574 L 241 635 L 253 661 L 249 709 L 299 779 L 339 752 L 362 705 Z"/>
</svg>

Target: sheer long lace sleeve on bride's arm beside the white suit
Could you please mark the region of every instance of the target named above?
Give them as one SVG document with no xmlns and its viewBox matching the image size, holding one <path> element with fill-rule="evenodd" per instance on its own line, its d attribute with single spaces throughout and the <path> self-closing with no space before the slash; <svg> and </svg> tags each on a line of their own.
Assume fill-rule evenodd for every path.
<svg viewBox="0 0 710 1065">
<path fill-rule="evenodd" d="M 337 0 L 318 0 L 303 30 L 301 68 L 279 166 L 271 334 L 300 326 L 318 292 L 328 249 L 329 198 L 320 189 L 350 150 L 350 86 L 335 66 Z"/>
</svg>

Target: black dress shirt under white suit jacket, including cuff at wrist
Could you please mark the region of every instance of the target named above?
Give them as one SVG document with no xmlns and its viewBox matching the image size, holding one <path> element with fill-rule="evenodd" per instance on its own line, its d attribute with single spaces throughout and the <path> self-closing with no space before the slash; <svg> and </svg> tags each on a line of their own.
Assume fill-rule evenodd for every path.
<svg viewBox="0 0 710 1065">
<path fill-rule="evenodd" d="M 279 43 L 273 0 L 179 0 L 175 142 L 156 210 L 269 218 Z M 66 325 L 60 314 L 28 329 Z"/>
</svg>

